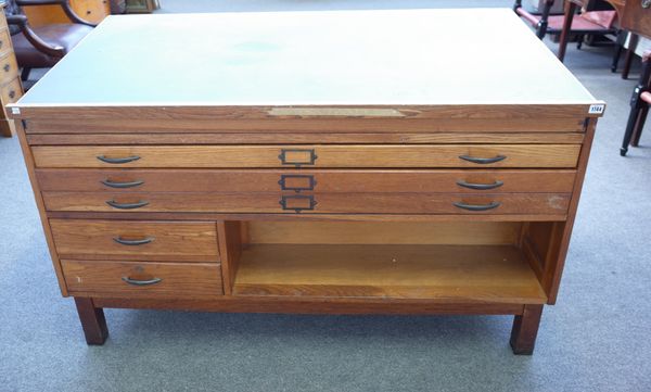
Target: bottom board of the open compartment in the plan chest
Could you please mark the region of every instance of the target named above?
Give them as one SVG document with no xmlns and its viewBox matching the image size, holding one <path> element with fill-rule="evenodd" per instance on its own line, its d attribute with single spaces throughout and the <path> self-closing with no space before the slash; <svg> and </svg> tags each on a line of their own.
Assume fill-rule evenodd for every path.
<svg viewBox="0 0 651 392">
<path fill-rule="evenodd" d="M 515 246 L 252 245 L 234 295 L 544 303 Z"/>
</svg>

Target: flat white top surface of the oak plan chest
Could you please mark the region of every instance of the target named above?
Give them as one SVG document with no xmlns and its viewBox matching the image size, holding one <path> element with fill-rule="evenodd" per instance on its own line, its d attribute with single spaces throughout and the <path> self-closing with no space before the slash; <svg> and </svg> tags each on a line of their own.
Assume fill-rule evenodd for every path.
<svg viewBox="0 0 651 392">
<path fill-rule="evenodd" d="M 598 102 L 508 9 L 110 16 L 16 104 Z"/>
</svg>

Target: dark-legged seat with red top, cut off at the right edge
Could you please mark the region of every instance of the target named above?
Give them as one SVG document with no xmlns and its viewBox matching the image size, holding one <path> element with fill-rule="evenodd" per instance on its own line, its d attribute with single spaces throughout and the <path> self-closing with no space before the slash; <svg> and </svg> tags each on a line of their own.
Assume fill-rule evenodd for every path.
<svg viewBox="0 0 651 392">
<path fill-rule="evenodd" d="M 638 147 L 649 114 L 649 105 L 651 105 L 651 51 L 646 51 L 642 54 L 642 73 L 630 98 L 630 114 L 624 131 L 620 155 L 626 155 L 628 146 Z"/>
</svg>

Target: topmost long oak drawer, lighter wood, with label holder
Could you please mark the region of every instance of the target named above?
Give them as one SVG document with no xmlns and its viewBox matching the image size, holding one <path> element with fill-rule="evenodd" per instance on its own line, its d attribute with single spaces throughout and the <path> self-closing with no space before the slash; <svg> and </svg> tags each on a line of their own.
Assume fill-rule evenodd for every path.
<svg viewBox="0 0 651 392">
<path fill-rule="evenodd" d="M 37 167 L 575 167 L 579 144 L 37 146 Z"/>
</svg>

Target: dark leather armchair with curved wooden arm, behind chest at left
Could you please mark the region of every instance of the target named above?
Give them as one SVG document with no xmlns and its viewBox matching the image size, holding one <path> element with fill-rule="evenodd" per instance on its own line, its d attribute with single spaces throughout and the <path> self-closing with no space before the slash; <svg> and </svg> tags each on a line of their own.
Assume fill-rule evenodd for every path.
<svg viewBox="0 0 651 392">
<path fill-rule="evenodd" d="M 72 23 L 33 28 L 21 9 L 52 4 L 61 5 Z M 23 80 L 27 80 L 31 68 L 47 68 L 56 64 L 95 26 L 79 17 L 67 0 L 8 0 L 5 12 L 18 66 L 23 68 Z"/>
</svg>

